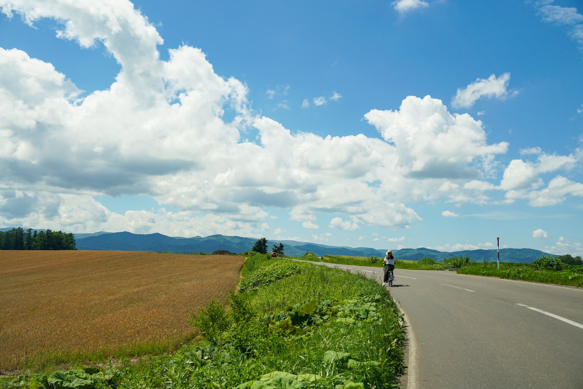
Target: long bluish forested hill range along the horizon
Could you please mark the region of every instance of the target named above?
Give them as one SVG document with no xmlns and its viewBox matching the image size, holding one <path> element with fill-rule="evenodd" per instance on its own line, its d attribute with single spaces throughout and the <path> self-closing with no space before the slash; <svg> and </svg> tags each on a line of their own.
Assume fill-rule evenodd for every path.
<svg viewBox="0 0 583 389">
<path fill-rule="evenodd" d="M 79 234 L 80 235 L 80 234 Z M 207 237 L 195 236 L 191 238 L 170 237 L 163 234 L 133 234 L 130 232 L 116 232 L 87 234 L 84 238 L 78 238 L 76 243 L 79 250 L 124 250 L 124 251 L 167 251 L 169 253 L 212 253 L 215 250 L 229 250 L 233 253 L 243 253 L 251 250 L 257 238 L 240 236 L 211 235 Z M 310 251 L 318 256 L 353 255 L 358 257 L 384 256 L 385 250 L 377 250 L 370 247 L 338 247 L 325 244 L 299 242 L 295 240 L 269 240 L 269 250 L 273 244 L 283 243 L 285 253 L 291 256 L 301 256 Z M 387 247 L 390 248 L 390 247 Z M 496 261 L 496 250 L 463 250 L 453 253 L 447 251 L 431 250 L 430 248 L 403 248 L 393 250 L 396 258 L 402 260 L 419 260 L 424 255 L 434 260 L 443 262 L 444 258 L 454 255 L 468 254 L 473 261 Z M 534 262 L 543 253 L 532 248 L 503 248 L 500 250 L 500 260 L 504 262 Z"/>
</svg>

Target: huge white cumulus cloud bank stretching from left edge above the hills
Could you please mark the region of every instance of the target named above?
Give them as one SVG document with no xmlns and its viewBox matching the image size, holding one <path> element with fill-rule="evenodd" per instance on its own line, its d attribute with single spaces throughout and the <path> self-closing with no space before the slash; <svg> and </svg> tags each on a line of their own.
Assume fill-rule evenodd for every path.
<svg viewBox="0 0 583 389">
<path fill-rule="evenodd" d="M 333 228 L 356 230 L 420 222 L 409 202 L 487 201 L 464 192 L 478 184 L 464 184 L 489 174 L 508 143 L 487 142 L 482 122 L 449 113 L 441 100 L 408 96 L 398 110 L 369 111 L 382 139 L 291 132 L 258 115 L 247 86 L 217 75 L 201 49 L 161 56 L 160 34 L 131 2 L 99 4 L 0 2 L 33 25 L 53 19 L 58 38 L 103 43 L 121 66 L 110 87 L 80 94 L 52 64 L 0 48 L 2 225 L 257 236 L 268 207 L 290 209 L 308 229 L 318 212 L 342 215 Z M 245 139 L 249 129 L 255 142 Z M 537 169 L 569 163 L 541 158 Z M 577 192 L 575 184 L 563 182 L 563 191 Z M 160 208 L 120 215 L 95 200 L 101 195 L 146 195 Z"/>
</svg>

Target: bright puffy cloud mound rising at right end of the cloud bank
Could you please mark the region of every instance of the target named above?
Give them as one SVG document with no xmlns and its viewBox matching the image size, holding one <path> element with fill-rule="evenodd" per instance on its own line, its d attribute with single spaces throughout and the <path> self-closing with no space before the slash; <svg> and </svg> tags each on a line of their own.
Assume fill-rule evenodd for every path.
<svg viewBox="0 0 583 389">
<path fill-rule="evenodd" d="M 468 114 L 451 114 L 438 99 L 408 96 L 398 111 L 372 110 L 364 117 L 395 145 L 396 164 L 415 178 L 476 178 L 470 162 L 488 163 L 508 149 L 507 142 L 488 145 L 482 122 Z"/>
</svg>

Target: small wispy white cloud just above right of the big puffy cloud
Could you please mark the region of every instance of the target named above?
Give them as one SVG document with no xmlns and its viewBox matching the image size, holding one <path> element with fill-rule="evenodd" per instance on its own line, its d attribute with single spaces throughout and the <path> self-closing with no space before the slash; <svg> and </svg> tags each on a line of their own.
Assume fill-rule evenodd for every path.
<svg viewBox="0 0 583 389">
<path fill-rule="evenodd" d="M 514 96 L 518 92 L 507 89 L 509 82 L 510 73 L 504 73 L 500 77 L 490 75 L 487 79 L 478 78 L 464 89 L 459 88 L 451 104 L 455 108 L 469 108 L 482 97 L 505 99 Z"/>
</svg>

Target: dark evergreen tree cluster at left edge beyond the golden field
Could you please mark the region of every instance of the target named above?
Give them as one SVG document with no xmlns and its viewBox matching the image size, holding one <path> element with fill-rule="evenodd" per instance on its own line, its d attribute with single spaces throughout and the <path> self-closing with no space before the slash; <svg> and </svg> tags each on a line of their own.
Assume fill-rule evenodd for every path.
<svg viewBox="0 0 583 389">
<path fill-rule="evenodd" d="M 77 246 L 72 233 L 18 227 L 0 231 L 0 250 L 77 250 Z"/>
</svg>

